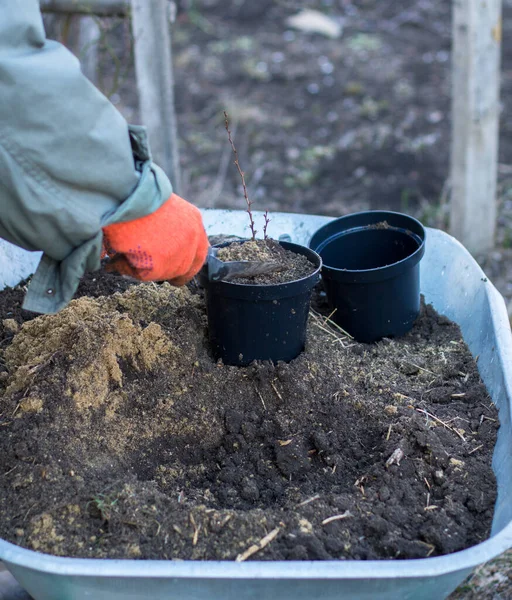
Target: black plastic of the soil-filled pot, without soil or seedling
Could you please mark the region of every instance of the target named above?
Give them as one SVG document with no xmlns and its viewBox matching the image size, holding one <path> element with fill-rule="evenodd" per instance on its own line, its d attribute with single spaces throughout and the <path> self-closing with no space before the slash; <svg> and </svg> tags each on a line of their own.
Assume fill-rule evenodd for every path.
<svg viewBox="0 0 512 600">
<path fill-rule="evenodd" d="M 271 285 L 210 281 L 206 268 L 201 271 L 216 360 L 237 366 L 253 360 L 288 362 L 304 350 L 311 291 L 320 280 L 322 261 L 306 246 L 279 243 L 306 256 L 316 265 L 315 271 L 303 279 Z"/>
</svg>

